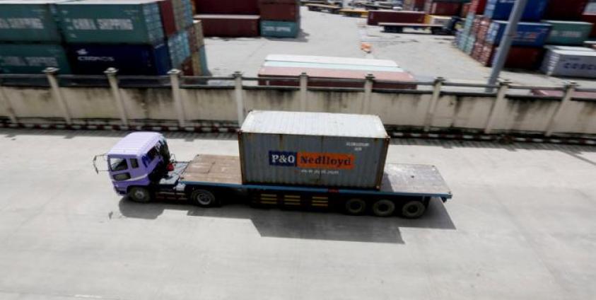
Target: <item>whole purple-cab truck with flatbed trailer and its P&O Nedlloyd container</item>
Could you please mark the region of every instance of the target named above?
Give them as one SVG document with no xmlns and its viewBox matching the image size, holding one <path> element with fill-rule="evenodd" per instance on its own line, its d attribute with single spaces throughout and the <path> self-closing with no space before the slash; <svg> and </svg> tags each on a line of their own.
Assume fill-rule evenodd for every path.
<svg viewBox="0 0 596 300">
<path fill-rule="evenodd" d="M 385 165 L 389 141 L 373 115 L 252 111 L 238 132 L 240 156 L 174 161 L 156 132 L 129 134 L 103 156 L 115 191 L 135 202 L 214 207 L 238 195 L 257 207 L 418 218 L 433 197 L 452 197 L 435 166 Z"/>
</svg>

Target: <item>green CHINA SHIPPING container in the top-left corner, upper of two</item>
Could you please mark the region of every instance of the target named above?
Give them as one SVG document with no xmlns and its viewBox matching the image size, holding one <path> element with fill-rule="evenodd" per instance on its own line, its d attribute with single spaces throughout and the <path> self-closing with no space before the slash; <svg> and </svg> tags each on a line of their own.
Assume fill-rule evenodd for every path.
<svg viewBox="0 0 596 300">
<path fill-rule="evenodd" d="M 60 42 L 54 4 L 64 1 L 0 1 L 0 41 Z"/>
</svg>

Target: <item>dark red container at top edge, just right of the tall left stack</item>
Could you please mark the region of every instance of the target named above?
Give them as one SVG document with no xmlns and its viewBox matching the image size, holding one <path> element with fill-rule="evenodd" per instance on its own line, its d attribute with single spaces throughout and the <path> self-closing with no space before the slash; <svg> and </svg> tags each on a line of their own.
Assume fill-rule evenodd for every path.
<svg viewBox="0 0 596 300">
<path fill-rule="evenodd" d="M 197 14 L 258 15 L 258 0 L 194 0 Z"/>
</svg>

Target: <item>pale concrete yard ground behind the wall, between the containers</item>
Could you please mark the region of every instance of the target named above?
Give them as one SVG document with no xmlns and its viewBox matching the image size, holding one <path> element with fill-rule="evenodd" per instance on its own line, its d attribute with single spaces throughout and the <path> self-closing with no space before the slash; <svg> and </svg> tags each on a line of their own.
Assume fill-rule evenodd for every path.
<svg viewBox="0 0 596 300">
<path fill-rule="evenodd" d="M 302 8 L 302 33 L 288 38 L 220 38 L 207 37 L 209 69 L 216 76 L 242 71 L 257 76 L 268 54 L 322 55 L 336 57 L 390 59 L 414 74 L 419 81 L 437 76 L 454 82 L 486 83 L 491 69 L 452 45 L 455 37 L 431 35 L 423 31 L 384 33 L 379 26 L 366 25 L 366 19 L 308 11 Z M 372 52 L 361 50 L 363 42 Z M 539 71 L 503 71 L 501 78 L 525 86 L 561 86 L 577 81 L 583 88 L 596 88 L 596 80 L 556 78 Z"/>
</svg>

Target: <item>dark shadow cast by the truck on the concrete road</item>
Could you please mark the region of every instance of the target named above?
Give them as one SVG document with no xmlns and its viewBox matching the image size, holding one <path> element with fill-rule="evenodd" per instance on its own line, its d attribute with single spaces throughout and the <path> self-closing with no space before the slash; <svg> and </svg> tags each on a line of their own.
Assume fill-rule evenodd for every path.
<svg viewBox="0 0 596 300">
<path fill-rule="evenodd" d="M 261 209 L 245 204 L 201 208 L 186 202 L 153 202 L 139 204 L 123 197 L 119 202 L 122 216 L 158 219 L 167 210 L 187 211 L 189 217 L 250 219 L 262 237 L 303 238 L 325 241 L 368 243 L 404 243 L 400 228 L 455 230 L 443 202 L 433 199 L 420 219 L 399 217 L 353 217 L 337 212 Z"/>
</svg>

